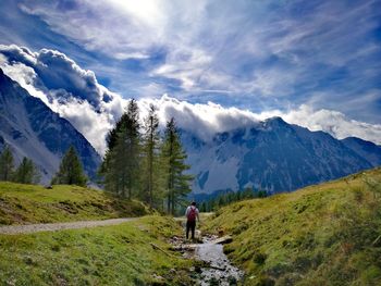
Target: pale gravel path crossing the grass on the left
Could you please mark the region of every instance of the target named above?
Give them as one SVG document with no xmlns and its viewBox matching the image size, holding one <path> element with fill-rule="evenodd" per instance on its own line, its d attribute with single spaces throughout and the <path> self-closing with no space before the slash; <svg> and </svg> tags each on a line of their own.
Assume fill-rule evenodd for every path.
<svg viewBox="0 0 381 286">
<path fill-rule="evenodd" d="M 105 221 L 79 221 L 70 223 L 46 223 L 46 224 L 27 224 L 27 225 L 7 225 L 0 226 L 0 234 L 16 235 L 16 234 L 32 234 L 38 232 L 56 232 L 62 229 L 76 229 L 97 227 L 105 225 L 115 225 L 125 222 L 136 221 L 138 217 L 112 219 Z"/>
</svg>

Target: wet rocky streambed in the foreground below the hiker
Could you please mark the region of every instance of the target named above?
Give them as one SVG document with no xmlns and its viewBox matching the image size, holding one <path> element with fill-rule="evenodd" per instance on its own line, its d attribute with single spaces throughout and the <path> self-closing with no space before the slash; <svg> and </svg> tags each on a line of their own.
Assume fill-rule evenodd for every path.
<svg viewBox="0 0 381 286">
<path fill-rule="evenodd" d="M 218 240 L 217 236 L 202 236 L 200 244 L 177 241 L 177 246 L 175 246 L 177 250 L 183 252 L 184 257 L 204 262 L 200 263 L 201 266 L 190 269 L 197 285 L 237 285 L 244 276 L 243 271 L 230 263 L 223 253 L 223 245 L 218 244 Z"/>
</svg>

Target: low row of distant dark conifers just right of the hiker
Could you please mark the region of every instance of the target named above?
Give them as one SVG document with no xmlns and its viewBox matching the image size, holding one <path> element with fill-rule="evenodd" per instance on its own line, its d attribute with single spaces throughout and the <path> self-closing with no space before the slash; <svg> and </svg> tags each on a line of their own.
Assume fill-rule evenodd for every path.
<svg viewBox="0 0 381 286">
<path fill-rule="evenodd" d="M 200 203 L 199 210 L 201 212 L 217 211 L 221 207 L 228 206 L 232 202 L 248 200 L 248 199 L 256 199 L 256 198 L 266 198 L 268 194 L 266 190 L 257 190 L 248 187 L 248 188 L 245 188 L 244 190 L 238 190 L 236 192 L 228 191 L 224 194 L 220 194 L 219 196 L 212 199 L 204 200 Z"/>
</svg>

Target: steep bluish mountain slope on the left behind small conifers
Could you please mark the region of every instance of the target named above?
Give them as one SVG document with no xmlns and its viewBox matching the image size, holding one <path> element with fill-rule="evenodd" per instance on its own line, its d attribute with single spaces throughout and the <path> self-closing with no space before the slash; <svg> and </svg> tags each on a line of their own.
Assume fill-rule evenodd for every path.
<svg viewBox="0 0 381 286">
<path fill-rule="evenodd" d="M 85 137 L 65 119 L 51 111 L 40 99 L 32 97 L 0 69 L 0 147 L 12 147 L 16 161 L 32 159 L 47 183 L 60 160 L 73 145 L 85 172 L 94 177 L 100 157 Z"/>
</svg>

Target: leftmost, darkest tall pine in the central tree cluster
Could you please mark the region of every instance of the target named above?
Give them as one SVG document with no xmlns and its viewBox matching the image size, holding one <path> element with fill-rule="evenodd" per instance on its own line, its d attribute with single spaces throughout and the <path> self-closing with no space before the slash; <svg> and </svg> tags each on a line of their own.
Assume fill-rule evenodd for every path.
<svg viewBox="0 0 381 286">
<path fill-rule="evenodd" d="M 140 134 L 139 114 L 135 99 L 130 100 L 108 136 L 108 151 L 100 174 L 106 189 L 132 199 L 133 190 L 140 188 Z"/>
</svg>

